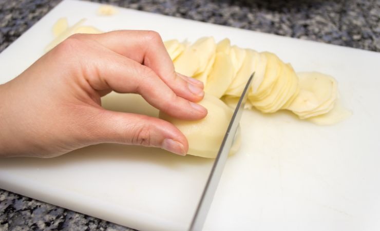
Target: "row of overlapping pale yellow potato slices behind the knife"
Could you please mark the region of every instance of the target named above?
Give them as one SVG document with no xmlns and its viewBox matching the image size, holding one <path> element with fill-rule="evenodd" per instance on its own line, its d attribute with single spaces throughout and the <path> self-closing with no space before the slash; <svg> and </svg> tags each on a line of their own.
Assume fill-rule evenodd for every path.
<svg viewBox="0 0 380 231">
<path fill-rule="evenodd" d="M 227 38 L 216 43 L 213 37 L 202 37 L 194 44 L 170 40 L 164 45 L 177 72 L 202 81 L 206 93 L 231 107 L 237 104 L 253 72 L 246 108 L 264 113 L 286 109 L 300 119 L 320 118 L 337 100 L 337 83 L 332 76 L 296 73 L 277 55 L 231 46 Z M 330 124 L 326 118 L 324 121 L 318 124 Z M 337 122 L 336 118 L 330 121 Z"/>
</svg>

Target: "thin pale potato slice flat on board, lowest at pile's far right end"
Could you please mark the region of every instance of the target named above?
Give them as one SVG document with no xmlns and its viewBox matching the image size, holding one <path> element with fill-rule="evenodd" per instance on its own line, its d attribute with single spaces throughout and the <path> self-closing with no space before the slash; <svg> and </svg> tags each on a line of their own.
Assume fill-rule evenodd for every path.
<svg viewBox="0 0 380 231">
<path fill-rule="evenodd" d="M 349 118 L 350 115 L 352 115 L 352 111 L 346 109 L 340 100 L 337 100 L 335 106 L 328 113 L 310 117 L 307 120 L 317 125 L 332 125 Z"/>
</svg>

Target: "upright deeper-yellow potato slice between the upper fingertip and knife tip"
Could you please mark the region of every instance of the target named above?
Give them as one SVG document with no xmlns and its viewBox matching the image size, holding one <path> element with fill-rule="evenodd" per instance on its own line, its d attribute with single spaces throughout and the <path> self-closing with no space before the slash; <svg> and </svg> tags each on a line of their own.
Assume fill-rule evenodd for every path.
<svg viewBox="0 0 380 231">
<path fill-rule="evenodd" d="M 230 86 L 234 77 L 234 67 L 231 57 L 224 52 L 218 52 L 215 55 L 214 65 L 207 77 L 207 84 L 204 91 L 221 98 L 227 88 Z"/>
</svg>

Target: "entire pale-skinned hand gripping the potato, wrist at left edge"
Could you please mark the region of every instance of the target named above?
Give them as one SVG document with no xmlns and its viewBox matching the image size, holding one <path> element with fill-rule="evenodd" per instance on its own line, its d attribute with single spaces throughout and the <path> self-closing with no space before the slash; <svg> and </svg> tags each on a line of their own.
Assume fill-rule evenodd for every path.
<svg viewBox="0 0 380 231">
<path fill-rule="evenodd" d="M 101 97 L 112 90 L 141 94 L 180 119 L 207 114 L 196 103 L 203 84 L 175 72 L 158 33 L 75 34 L 0 85 L 0 157 L 51 158 L 99 143 L 186 154 L 187 140 L 174 125 L 102 108 Z"/>
</svg>

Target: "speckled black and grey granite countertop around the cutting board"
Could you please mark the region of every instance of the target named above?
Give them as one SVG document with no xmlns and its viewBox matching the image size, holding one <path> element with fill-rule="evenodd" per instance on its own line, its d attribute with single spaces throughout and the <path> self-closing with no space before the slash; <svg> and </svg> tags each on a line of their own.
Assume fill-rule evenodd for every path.
<svg viewBox="0 0 380 231">
<path fill-rule="evenodd" d="M 0 0 L 0 52 L 59 2 Z M 96 2 L 380 52 L 380 0 Z M 30 229 L 132 230 L 0 189 L 0 231 Z"/>
</svg>

